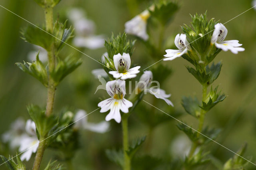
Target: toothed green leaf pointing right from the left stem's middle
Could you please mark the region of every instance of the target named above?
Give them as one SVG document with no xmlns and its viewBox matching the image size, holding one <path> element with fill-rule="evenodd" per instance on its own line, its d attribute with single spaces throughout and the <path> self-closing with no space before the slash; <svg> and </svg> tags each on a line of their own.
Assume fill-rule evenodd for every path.
<svg viewBox="0 0 256 170">
<path fill-rule="evenodd" d="M 63 78 L 65 78 L 68 74 L 76 70 L 78 66 L 82 64 L 82 60 L 76 60 L 76 58 L 72 56 L 66 57 L 64 60 L 57 58 L 58 64 L 53 72 L 50 72 L 50 75 L 54 79 L 55 86 L 57 86 Z"/>
</svg>

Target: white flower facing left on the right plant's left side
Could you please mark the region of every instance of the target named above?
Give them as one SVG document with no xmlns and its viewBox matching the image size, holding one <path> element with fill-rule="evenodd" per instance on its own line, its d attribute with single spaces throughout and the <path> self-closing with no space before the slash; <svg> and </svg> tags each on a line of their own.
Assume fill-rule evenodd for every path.
<svg viewBox="0 0 256 170">
<path fill-rule="evenodd" d="M 164 56 L 164 61 L 166 60 L 174 60 L 177 57 L 182 56 L 183 54 L 186 54 L 188 50 L 190 50 L 190 45 L 188 44 L 188 41 L 186 40 L 186 34 L 177 34 L 174 40 L 174 43 L 178 50 L 165 50 L 167 54 Z"/>
</svg>

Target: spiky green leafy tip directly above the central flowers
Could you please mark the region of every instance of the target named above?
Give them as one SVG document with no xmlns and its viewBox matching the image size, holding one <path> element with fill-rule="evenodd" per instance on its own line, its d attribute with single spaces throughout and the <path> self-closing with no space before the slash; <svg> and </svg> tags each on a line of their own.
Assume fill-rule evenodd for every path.
<svg viewBox="0 0 256 170">
<path fill-rule="evenodd" d="M 108 41 L 105 41 L 105 47 L 108 52 L 108 56 L 110 59 L 113 59 L 113 56 L 120 53 L 121 55 L 123 53 L 130 54 L 132 56 L 133 53 L 133 46 L 134 46 L 135 40 L 130 41 L 127 40 L 126 33 L 119 34 L 118 36 L 114 37 L 114 34 L 112 34 L 111 38 L 108 39 Z"/>
</svg>

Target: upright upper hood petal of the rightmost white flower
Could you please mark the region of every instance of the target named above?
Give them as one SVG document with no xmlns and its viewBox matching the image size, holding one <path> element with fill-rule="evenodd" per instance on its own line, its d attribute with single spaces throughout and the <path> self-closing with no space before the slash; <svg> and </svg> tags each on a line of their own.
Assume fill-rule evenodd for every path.
<svg viewBox="0 0 256 170">
<path fill-rule="evenodd" d="M 228 30 L 223 24 L 218 23 L 214 27 L 215 29 L 211 39 L 212 44 L 214 44 L 215 42 L 218 42 L 218 43 L 222 42 L 228 34 Z"/>
</svg>

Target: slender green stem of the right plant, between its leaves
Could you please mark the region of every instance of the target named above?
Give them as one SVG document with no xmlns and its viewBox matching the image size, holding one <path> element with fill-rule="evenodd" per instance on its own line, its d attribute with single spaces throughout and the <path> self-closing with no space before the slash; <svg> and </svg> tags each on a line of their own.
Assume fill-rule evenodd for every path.
<svg viewBox="0 0 256 170">
<path fill-rule="evenodd" d="M 207 96 L 207 85 L 202 85 L 202 101 L 206 100 Z M 198 125 L 198 132 L 202 132 L 203 126 L 204 126 L 204 118 L 205 118 L 206 111 L 201 109 L 200 112 L 200 118 L 199 118 L 199 125 Z M 200 136 L 200 133 L 197 133 L 197 137 Z M 188 154 L 188 158 L 191 158 L 197 148 L 198 144 L 196 142 L 193 143 L 192 148 L 190 149 L 190 152 Z"/>
</svg>

